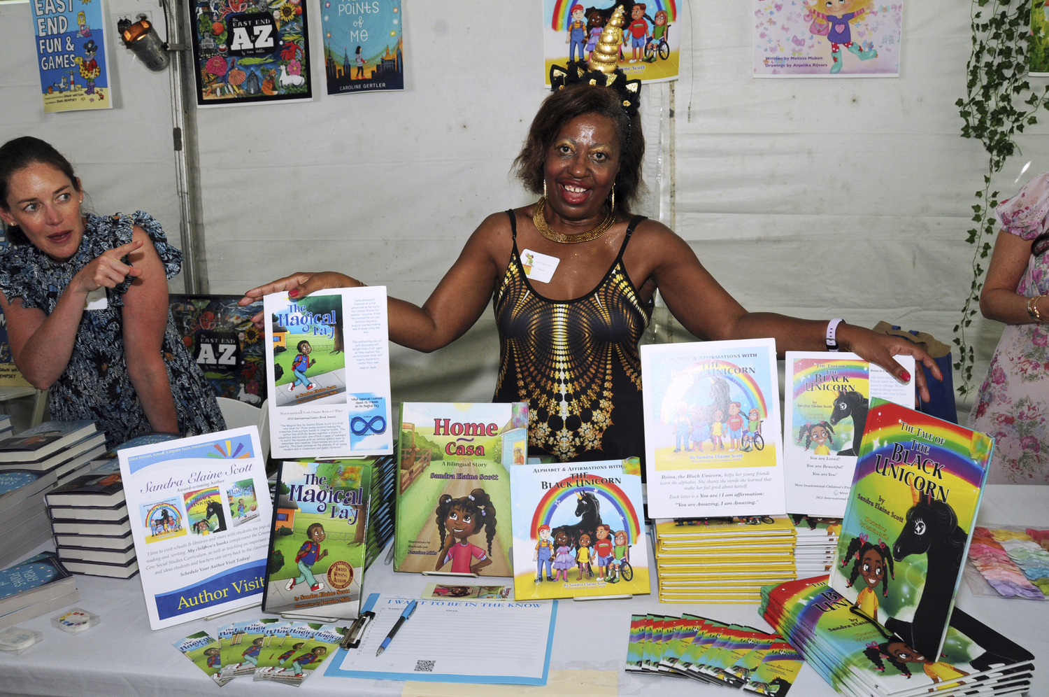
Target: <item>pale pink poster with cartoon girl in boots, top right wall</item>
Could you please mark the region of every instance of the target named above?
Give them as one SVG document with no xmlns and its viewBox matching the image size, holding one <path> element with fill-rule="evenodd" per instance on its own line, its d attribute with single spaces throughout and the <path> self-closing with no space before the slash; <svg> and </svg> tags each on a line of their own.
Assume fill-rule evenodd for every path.
<svg viewBox="0 0 1049 697">
<path fill-rule="evenodd" d="M 896 78 L 903 2 L 754 0 L 755 78 Z"/>
</svg>

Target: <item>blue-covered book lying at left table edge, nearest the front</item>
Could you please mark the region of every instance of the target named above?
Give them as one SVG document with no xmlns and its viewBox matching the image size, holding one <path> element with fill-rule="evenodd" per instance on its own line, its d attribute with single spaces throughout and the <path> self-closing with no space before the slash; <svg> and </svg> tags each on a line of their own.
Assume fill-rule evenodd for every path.
<svg viewBox="0 0 1049 697">
<path fill-rule="evenodd" d="M 0 629 L 39 617 L 78 599 L 77 582 L 50 552 L 0 571 Z"/>
</svg>

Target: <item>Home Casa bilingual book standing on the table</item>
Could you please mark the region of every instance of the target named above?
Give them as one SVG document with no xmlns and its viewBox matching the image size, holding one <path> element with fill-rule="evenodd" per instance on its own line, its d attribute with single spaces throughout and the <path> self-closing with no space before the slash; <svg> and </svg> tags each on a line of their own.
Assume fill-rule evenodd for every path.
<svg viewBox="0 0 1049 697">
<path fill-rule="evenodd" d="M 511 463 L 528 403 L 401 405 L 394 569 L 512 576 Z"/>
</svg>

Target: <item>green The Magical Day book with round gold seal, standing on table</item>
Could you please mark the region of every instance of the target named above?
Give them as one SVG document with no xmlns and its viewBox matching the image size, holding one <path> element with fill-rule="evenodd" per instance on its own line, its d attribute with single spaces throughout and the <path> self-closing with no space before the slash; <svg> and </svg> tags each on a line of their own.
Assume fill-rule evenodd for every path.
<svg viewBox="0 0 1049 697">
<path fill-rule="evenodd" d="M 280 464 L 265 612 L 357 617 L 372 470 L 349 462 Z"/>
</svg>

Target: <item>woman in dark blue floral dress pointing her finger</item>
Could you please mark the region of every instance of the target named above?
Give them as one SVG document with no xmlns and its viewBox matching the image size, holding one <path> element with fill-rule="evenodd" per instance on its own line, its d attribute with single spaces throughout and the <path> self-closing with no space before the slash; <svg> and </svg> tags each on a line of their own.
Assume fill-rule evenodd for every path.
<svg viewBox="0 0 1049 697">
<path fill-rule="evenodd" d="M 175 332 L 168 279 L 181 253 L 159 224 L 83 214 L 69 162 L 35 138 L 0 147 L 0 309 L 22 375 L 50 388 L 56 421 L 93 419 L 109 446 L 147 434 L 226 427 Z"/>
</svg>

